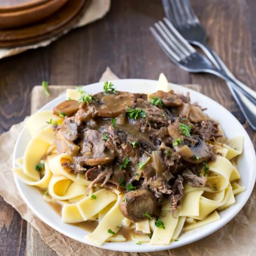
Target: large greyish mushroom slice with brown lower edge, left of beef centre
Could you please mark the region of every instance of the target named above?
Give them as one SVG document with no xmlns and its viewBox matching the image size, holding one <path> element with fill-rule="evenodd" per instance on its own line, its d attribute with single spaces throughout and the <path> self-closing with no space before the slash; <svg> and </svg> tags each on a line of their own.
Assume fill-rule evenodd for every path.
<svg viewBox="0 0 256 256">
<path fill-rule="evenodd" d="M 81 155 L 86 165 L 108 164 L 115 158 L 115 152 L 109 150 L 102 140 L 103 134 L 96 130 L 87 130 L 81 142 Z"/>
</svg>

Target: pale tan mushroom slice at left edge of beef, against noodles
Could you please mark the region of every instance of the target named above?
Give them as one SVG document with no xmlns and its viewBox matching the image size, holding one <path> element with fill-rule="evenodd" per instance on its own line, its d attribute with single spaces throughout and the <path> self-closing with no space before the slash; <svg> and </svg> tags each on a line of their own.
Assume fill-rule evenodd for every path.
<svg viewBox="0 0 256 256">
<path fill-rule="evenodd" d="M 59 154 L 67 153 L 69 155 L 76 155 L 80 148 L 79 146 L 75 145 L 74 142 L 68 141 L 61 133 L 61 130 L 55 134 L 54 145 L 57 148 Z"/>
</svg>

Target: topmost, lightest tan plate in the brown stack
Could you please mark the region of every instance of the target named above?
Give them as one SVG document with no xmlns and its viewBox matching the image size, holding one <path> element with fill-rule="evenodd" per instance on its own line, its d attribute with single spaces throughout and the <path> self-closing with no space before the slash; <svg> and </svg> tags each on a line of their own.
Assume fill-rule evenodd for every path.
<svg viewBox="0 0 256 256">
<path fill-rule="evenodd" d="M 24 10 L 50 0 L 0 0 L 0 13 Z"/>
</svg>

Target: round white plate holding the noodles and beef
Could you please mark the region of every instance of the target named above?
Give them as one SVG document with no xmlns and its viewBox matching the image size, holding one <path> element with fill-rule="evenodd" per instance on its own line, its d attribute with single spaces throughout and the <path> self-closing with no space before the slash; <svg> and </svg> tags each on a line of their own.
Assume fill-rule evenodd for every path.
<svg viewBox="0 0 256 256">
<path fill-rule="evenodd" d="M 125 79 L 112 81 L 115 84 L 115 88 L 120 91 L 128 91 L 131 93 L 153 93 L 156 90 L 157 81 L 142 80 L 142 79 Z M 94 83 L 84 87 L 86 92 L 90 94 L 97 93 L 103 89 L 103 82 Z M 212 118 L 216 119 L 222 125 L 225 134 L 230 138 L 237 135 L 244 136 L 243 155 L 239 157 L 238 170 L 242 176 L 242 185 L 245 186 L 245 191 L 236 196 L 236 203 L 226 210 L 220 212 L 221 219 L 208 224 L 199 229 L 189 231 L 179 237 L 178 242 L 173 242 L 167 246 L 152 246 L 146 243 L 141 245 L 135 244 L 133 241 L 125 243 L 104 243 L 99 246 L 102 249 L 126 251 L 126 252 L 149 252 L 165 249 L 172 249 L 180 247 L 182 245 L 195 242 L 205 236 L 210 235 L 217 229 L 220 229 L 227 222 L 236 216 L 236 214 L 243 208 L 244 204 L 249 198 L 254 187 L 256 178 L 256 157 L 252 142 L 243 126 L 237 121 L 237 119 L 219 103 L 213 101 L 207 96 L 195 92 L 194 90 L 184 88 L 178 85 L 171 85 L 171 89 L 175 92 L 190 93 L 191 101 L 197 101 L 203 108 L 208 108 L 206 113 Z M 52 110 L 61 101 L 65 100 L 65 95 L 61 95 L 53 101 L 47 103 L 41 110 Z M 15 166 L 14 160 L 22 157 L 25 148 L 30 140 L 30 135 L 25 128 L 22 129 L 18 140 L 16 142 L 13 154 L 13 167 Z M 51 208 L 51 206 L 45 202 L 42 195 L 33 186 L 28 186 L 15 177 L 16 185 L 20 191 L 20 194 L 28 207 L 38 216 L 43 222 L 47 223 L 52 228 L 61 232 L 62 234 L 69 236 L 82 243 L 88 243 L 84 236 L 88 234 L 87 231 L 80 229 L 79 227 L 63 223 L 61 217 Z M 93 245 L 91 243 L 88 243 Z"/>
</svg>

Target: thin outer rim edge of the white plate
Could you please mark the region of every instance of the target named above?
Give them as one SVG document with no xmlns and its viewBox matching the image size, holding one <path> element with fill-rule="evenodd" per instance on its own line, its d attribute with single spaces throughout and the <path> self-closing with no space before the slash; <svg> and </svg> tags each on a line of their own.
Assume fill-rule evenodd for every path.
<svg viewBox="0 0 256 256">
<path fill-rule="evenodd" d="M 113 83 L 116 82 L 116 81 L 118 81 L 118 82 L 121 82 L 121 81 L 128 81 L 128 82 L 138 81 L 138 82 L 143 82 L 143 81 L 144 81 L 144 82 L 155 82 L 155 83 L 157 83 L 157 80 L 150 80 L 150 79 L 118 79 L 118 80 L 109 80 L 109 82 L 113 82 Z M 85 85 L 85 86 L 83 86 L 82 88 L 83 88 L 83 89 L 86 89 L 88 86 L 92 87 L 92 86 L 94 86 L 94 85 L 96 85 L 96 84 L 99 85 L 99 84 L 103 84 L 103 83 L 104 83 L 104 82 L 95 82 L 95 83 L 91 83 L 91 84 Z M 171 88 L 171 86 L 177 87 L 177 88 L 174 88 L 174 90 L 177 90 L 178 88 L 181 87 L 181 88 L 185 89 L 186 91 L 188 91 L 189 93 L 199 94 L 200 97 L 203 96 L 203 97 L 206 97 L 207 99 L 209 99 L 210 101 L 214 101 L 215 104 L 217 104 L 217 105 L 218 105 L 219 107 L 221 107 L 221 108 L 224 108 L 226 111 L 229 112 L 230 115 L 233 116 L 233 118 L 236 119 L 236 117 L 235 117 L 228 109 L 226 109 L 226 108 L 223 107 L 220 103 L 218 103 L 217 101 L 211 99 L 211 98 L 208 97 L 207 95 L 202 94 L 202 93 L 200 93 L 200 92 L 197 92 L 197 91 L 195 91 L 195 90 L 193 90 L 193 89 L 191 89 L 191 88 L 184 87 L 184 86 L 182 86 L 182 85 L 178 85 L 178 84 L 174 84 L 174 83 L 168 83 L 168 84 L 169 84 L 170 88 Z M 129 91 L 129 90 L 128 90 L 128 91 Z M 36 112 L 42 111 L 43 108 L 47 108 L 47 106 L 50 105 L 50 104 L 52 104 L 53 101 L 56 101 L 57 99 L 60 99 L 60 98 L 63 97 L 65 94 L 66 94 L 66 93 L 61 94 L 61 95 L 59 95 L 58 97 L 54 98 L 52 101 L 47 102 L 47 104 L 45 104 L 42 108 L 40 108 L 40 109 L 39 109 L 38 111 L 36 111 Z M 200 102 L 199 102 L 199 103 L 200 103 Z M 36 113 L 36 112 L 35 112 L 35 113 Z M 87 241 L 87 240 L 85 240 L 85 239 L 84 239 L 84 240 L 79 240 L 79 239 L 77 239 L 77 238 L 74 238 L 74 236 L 72 236 L 72 234 L 66 232 L 66 231 L 63 230 L 63 229 L 60 229 L 59 227 L 55 226 L 53 223 L 48 222 L 43 216 L 41 216 L 41 214 L 40 214 L 37 210 L 34 209 L 33 205 L 30 204 L 30 202 L 28 202 L 27 198 L 25 197 L 25 195 L 24 195 L 23 192 L 22 192 L 22 189 L 20 188 L 19 182 L 21 182 L 21 181 L 18 179 L 18 177 L 17 177 L 16 175 L 13 174 L 14 180 L 15 180 L 15 184 L 16 184 L 16 187 L 17 187 L 18 190 L 19 190 L 19 193 L 20 193 L 22 199 L 26 202 L 26 204 L 27 204 L 27 206 L 29 207 L 29 209 L 32 210 L 33 214 L 35 214 L 37 217 L 39 217 L 42 222 L 46 223 L 46 224 L 47 224 L 48 226 L 50 226 L 51 228 L 57 230 L 57 231 L 60 232 L 61 234 L 65 235 L 65 236 L 68 236 L 68 237 L 70 237 L 70 238 L 72 238 L 72 239 L 74 239 L 74 240 L 76 240 L 76 241 L 78 241 L 78 242 L 85 243 L 85 244 L 88 244 L 88 245 L 91 245 L 91 246 L 95 246 L 95 247 L 98 247 L 98 248 L 101 248 L 101 249 L 108 249 L 108 250 L 115 250 L 115 251 L 122 251 L 122 252 L 155 252 L 155 251 L 161 251 L 161 250 L 166 250 L 166 249 L 175 249 L 175 248 L 182 247 L 182 246 L 187 245 L 187 244 L 190 244 L 190 243 L 194 243 L 195 241 L 199 241 L 199 240 L 201 240 L 202 238 L 213 234 L 213 233 L 216 232 L 218 229 L 221 229 L 223 226 L 225 226 L 229 221 L 231 221 L 231 220 L 240 212 L 240 210 L 241 210 L 241 209 L 243 208 L 243 206 L 246 204 L 246 202 L 248 201 L 248 199 L 249 199 L 249 197 L 250 197 L 250 195 L 251 195 L 251 193 L 252 193 L 252 190 L 253 190 L 253 188 L 254 188 L 254 184 L 255 184 L 255 181 L 256 181 L 256 154 L 255 154 L 255 149 L 254 149 L 253 143 L 252 143 L 252 141 L 251 141 L 251 139 L 250 139 L 250 137 L 249 137 L 247 131 L 246 131 L 245 128 L 243 127 L 243 125 L 242 125 L 237 119 L 236 119 L 236 121 L 237 121 L 237 123 L 239 123 L 239 125 L 241 126 L 241 128 L 243 128 L 244 133 L 245 133 L 245 134 L 247 135 L 247 137 L 249 138 L 249 146 L 250 146 L 250 148 L 253 149 L 252 154 L 254 153 L 253 155 L 255 156 L 255 157 L 254 157 L 254 161 L 253 161 L 253 166 L 252 166 L 252 168 L 251 168 L 251 169 L 253 169 L 253 173 L 252 173 L 253 177 L 252 177 L 251 182 L 249 183 L 249 184 L 252 184 L 252 185 L 249 187 L 249 189 L 248 189 L 248 187 L 246 187 L 246 190 L 245 190 L 245 191 L 246 191 L 246 196 L 245 196 L 244 201 L 241 202 L 240 204 L 236 204 L 236 209 L 235 209 L 233 212 L 230 212 L 230 214 L 229 214 L 228 217 L 226 217 L 226 218 L 221 218 L 220 220 L 218 220 L 219 225 L 216 225 L 215 227 L 212 227 L 212 228 L 210 229 L 210 231 L 204 231 L 202 234 L 199 234 L 199 235 L 197 235 L 197 236 L 195 235 L 195 236 L 189 237 L 188 241 L 186 241 L 186 242 L 178 241 L 178 242 L 175 242 L 175 243 L 170 243 L 169 245 L 148 245 L 148 243 L 145 243 L 145 245 L 147 245 L 146 247 L 145 247 L 145 246 L 142 246 L 142 247 L 141 247 L 141 245 L 139 246 L 139 245 L 134 244 L 133 246 L 130 246 L 130 249 L 127 249 L 127 248 L 125 248 L 125 249 L 122 249 L 122 248 L 116 249 L 116 248 L 115 248 L 115 244 L 117 244 L 117 243 L 104 243 L 103 245 L 100 245 L 100 246 L 99 246 L 99 245 L 95 245 L 95 244 L 93 244 L 93 243 L 90 243 L 89 241 Z M 21 132 L 20 132 L 18 138 L 17 138 L 17 141 L 16 141 L 15 146 L 14 146 L 14 149 L 13 149 L 13 168 L 15 167 L 15 159 L 14 159 L 14 156 L 15 156 L 15 152 L 16 152 L 17 147 L 18 147 L 18 142 L 19 142 L 20 137 L 22 136 L 22 133 L 23 133 L 23 131 L 24 131 L 25 129 L 26 129 L 26 128 L 25 128 L 25 126 L 24 126 L 24 127 L 22 128 L 22 130 L 21 130 Z M 23 182 L 22 182 L 22 183 L 23 183 Z M 214 223 L 214 222 L 213 222 L 213 223 Z M 210 225 L 210 224 L 208 224 L 208 225 Z M 206 225 L 206 226 L 208 226 L 208 225 Z M 182 243 L 181 243 L 181 242 L 182 242 Z M 125 243 L 125 242 L 123 242 L 123 243 Z M 142 243 L 142 244 L 143 244 L 143 243 Z M 113 245 L 114 245 L 114 248 L 112 248 Z"/>
</svg>

